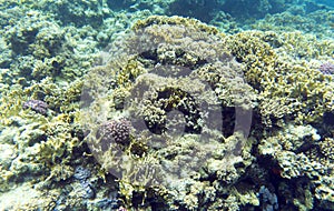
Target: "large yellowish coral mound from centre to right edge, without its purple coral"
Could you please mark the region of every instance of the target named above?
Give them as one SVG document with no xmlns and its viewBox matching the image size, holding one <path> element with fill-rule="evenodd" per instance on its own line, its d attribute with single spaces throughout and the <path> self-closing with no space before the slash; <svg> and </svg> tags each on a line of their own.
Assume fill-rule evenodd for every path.
<svg viewBox="0 0 334 211">
<path fill-rule="evenodd" d="M 314 187 L 318 177 L 331 172 L 330 162 L 312 160 L 310 150 L 324 141 L 311 123 L 318 124 L 324 113 L 333 112 L 333 82 L 315 64 L 308 67 L 305 59 L 326 60 L 331 47 L 315 42 L 313 52 L 306 51 L 307 57 L 297 60 L 294 51 L 282 52 L 289 42 L 298 47 L 295 51 L 305 50 L 312 37 L 259 31 L 226 36 L 179 17 L 150 17 L 138 21 L 132 30 L 134 34 L 124 36 L 116 47 L 110 47 L 108 62 L 92 69 L 85 88 L 91 103 L 89 109 L 98 113 L 84 120 L 92 131 L 97 130 L 94 127 L 98 122 L 119 117 L 128 118 L 134 127 L 126 151 L 115 153 L 117 148 L 112 147 L 110 152 L 92 150 L 104 168 L 119 170 L 111 173 L 119 177 L 124 205 L 148 208 L 164 201 L 161 209 L 226 209 L 230 203 L 235 203 L 235 209 L 250 204 L 262 204 L 264 209 L 310 209 L 317 203 L 320 198 L 305 193 L 307 204 L 302 199 L 279 204 L 283 199 L 289 201 L 283 197 L 288 185 L 284 179 L 307 178 L 307 185 Z M 302 42 L 296 37 L 305 40 Z M 320 52 L 315 46 L 322 44 Z M 100 87 L 96 87 L 97 81 Z M 203 110 L 200 105 L 206 103 Z M 217 108 L 223 109 L 220 121 L 216 120 L 222 115 L 208 112 Z M 236 112 L 253 110 L 254 117 L 259 118 L 254 119 L 256 125 L 250 137 L 245 139 L 243 133 L 233 131 L 244 132 L 230 125 L 238 121 L 238 114 L 233 115 L 228 108 L 235 108 Z M 213 124 L 203 115 L 206 111 Z M 212 128 L 219 122 L 225 122 L 222 132 Z M 92 149 L 99 143 L 94 138 L 88 141 Z M 196 142 L 203 141 L 199 148 Z M 135 145 L 136 152 L 141 151 L 139 157 L 134 154 Z M 262 158 L 271 164 L 257 161 Z M 263 179 L 257 179 L 258 173 L 250 173 L 256 172 L 257 162 L 257 168 L 267 172 Z M 194 169 L 195 163 L 203 167 Z M 125 167 L 131 167 L 136 173 L 129 174 Z M 268 183 L 271 177 L 282 183 Z M 209 181 L 214 181 L 214 185 L 209 185 Z M 155 184 L 155 190 L 148 184 Z M 244 190 L 247 185 L 252 188 Z M 261 189 L 263 185 L 277 185 L 282 190 L 272 193 Z M 226 199 L 216 197 L 228 191 Z M 150 194 L 158 200 L 144 197 Z M 273 201 L 268 199 L 271 194 L 278 197 Z M 136 202 L 138 198 L 145 202 Z M 331 199 L 327 201 L 326 208 L 332 203 Z"/>
</svg>

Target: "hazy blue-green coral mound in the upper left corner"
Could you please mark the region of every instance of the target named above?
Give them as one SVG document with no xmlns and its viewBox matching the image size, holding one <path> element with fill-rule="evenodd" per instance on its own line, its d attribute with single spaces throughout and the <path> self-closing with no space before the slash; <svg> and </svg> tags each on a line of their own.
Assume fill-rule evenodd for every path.
<svg viewBox="0 0 334 211">
<path fill-rule="evenodd" d="M 88 33 L 88 29 L 81 32 Z M 12 84 L 18 77 L 24 78 L 20 81 L 22 86 L 47 77 L 57 83 L 69 82 L 81 77 L 96 58 L 92 48 L 97 42 L 76 37 L 78 29 L 63 28 L 36 10 L 7 26 L 1 33 L 12 56 L 7 67 Z"/>
</svg>

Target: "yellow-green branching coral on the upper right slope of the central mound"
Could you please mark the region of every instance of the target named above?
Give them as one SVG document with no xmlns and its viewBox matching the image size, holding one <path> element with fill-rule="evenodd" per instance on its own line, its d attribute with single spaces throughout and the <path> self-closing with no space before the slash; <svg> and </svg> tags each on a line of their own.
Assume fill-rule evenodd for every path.
<svg viewBox="0 0 334 211">
<path fill-rule="evenodd" d="M 321 122 L 324 113 L 333 111 L 332 78 L 322 74 L 307 62 L 288 62 L 296 58 L 279 52 L 273 41 L 277 41 L 275 37 L 277 34 L 273 32 L 246 31 L 228 39 L 232 52 L 246 66 L 247 82 L 258 91 L 263 122 L 269 127 L 273 121 L 284 124 L 282 121 L 285 120 Z M 314 40 L 314 37 L 311 39 Z M 293 43 L 297 44 L 297 40 Z M 331 48 L 323 51 L 316 44 L 331 47 L 333 42 L 314 44 L 314 49 L 318 49 L 316 52 L 328 58 Z M 306 52 L 307 48 L 307 42 L 299 46 Z"/>
</svg>

